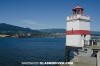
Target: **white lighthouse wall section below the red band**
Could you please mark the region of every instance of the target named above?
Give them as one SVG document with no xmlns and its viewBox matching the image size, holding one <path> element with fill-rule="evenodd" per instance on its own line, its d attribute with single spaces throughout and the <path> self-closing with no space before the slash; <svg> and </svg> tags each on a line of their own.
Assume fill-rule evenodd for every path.
<svg viewBox="0 0 100 66">
<path fill-rule="evenodd" d="M 81 35 L 66 35 L 66 46 L 83 47 L 84 40 L 90 40 L 90 35 L 86 35 L 85 38 Z"/>
</svg>

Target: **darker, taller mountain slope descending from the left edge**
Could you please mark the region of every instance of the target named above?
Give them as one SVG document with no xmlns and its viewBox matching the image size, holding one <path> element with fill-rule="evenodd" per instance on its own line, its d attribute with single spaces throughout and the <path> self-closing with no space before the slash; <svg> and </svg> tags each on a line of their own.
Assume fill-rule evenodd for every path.
<svg viewBox="0 0 100 66">
<path fill-rule="evenodd" d="M 0 32 L 6 33 L 40 33 L 40 31 L 38 30 L 32 30 L 29 28 L 23 28 L 23 27 L 19 27 L 19 26 L 14 26 L 14 25 L 10 25 L 10 24 L 6 24 L 6 23 L 0 23 Z"/>
</svg>

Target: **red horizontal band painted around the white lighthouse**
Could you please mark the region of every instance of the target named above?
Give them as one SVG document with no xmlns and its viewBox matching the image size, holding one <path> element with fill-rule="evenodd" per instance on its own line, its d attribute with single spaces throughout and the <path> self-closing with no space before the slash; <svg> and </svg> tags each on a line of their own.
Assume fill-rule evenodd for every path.
<svg viewBox="0 0 100 66">
<path fill-rule="evenodd" d="M 68 30 L 66 35 L 90 35 L 90 31 L 88 30 Z"/>
</svg>

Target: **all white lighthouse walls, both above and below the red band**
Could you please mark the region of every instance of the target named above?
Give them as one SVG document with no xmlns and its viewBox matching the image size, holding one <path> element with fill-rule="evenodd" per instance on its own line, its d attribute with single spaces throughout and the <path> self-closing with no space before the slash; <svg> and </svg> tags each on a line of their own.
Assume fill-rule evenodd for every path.
<svg viewBox="0 0 100 66">
<path fill-rule="evenodd" d="M 81 19 L 81 20 L 80 20 Z M 67 17 L 68 30 L 88 30 L 90 31 L 90 18 L 84 15 L 75 15 Z M 90 40 L 90 35 L 82 37 L 81 35 L 66 35 L 66 46 L 83 47 L 84 39 Z M 87 43 L 88 44 L 88 43 Z"/>
</svg>

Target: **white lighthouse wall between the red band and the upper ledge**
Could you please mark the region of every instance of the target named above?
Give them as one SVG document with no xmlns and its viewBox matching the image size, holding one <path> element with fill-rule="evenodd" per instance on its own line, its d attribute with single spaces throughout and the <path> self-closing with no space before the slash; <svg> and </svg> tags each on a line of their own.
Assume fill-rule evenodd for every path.
<svg viewBox="0 0 100 66">
<path fill-rule="evenodd" d="M 67 31 L 68 30 L 90 30 L 90 22 L 84 22 L 84 21 L 72 21 L 67 22 Z"/>
</svg>

